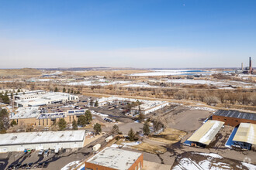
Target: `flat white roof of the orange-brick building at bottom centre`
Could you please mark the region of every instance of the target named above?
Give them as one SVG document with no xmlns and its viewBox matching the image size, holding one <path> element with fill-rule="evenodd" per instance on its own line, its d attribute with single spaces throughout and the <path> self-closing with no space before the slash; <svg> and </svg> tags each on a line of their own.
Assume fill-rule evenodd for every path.
<svg viewBox="0 0 256 170">
<path fill-rule="evenodd" d="M 88 159 L 86 162 L 109 168 L 126 170 L 137 161 L 140 155 L 142 154 L 134 151 L 107 147 L 100 151 L 97 155 L 94 155 L 92 158 Z"/>
</svg>

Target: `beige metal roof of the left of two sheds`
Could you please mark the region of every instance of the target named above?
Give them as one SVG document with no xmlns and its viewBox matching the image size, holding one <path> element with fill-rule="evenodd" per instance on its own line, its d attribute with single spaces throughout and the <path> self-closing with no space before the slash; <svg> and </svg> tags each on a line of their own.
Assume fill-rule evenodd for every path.
<svg viewBox="0 0 256 170">
<path fill-rule="evenodd" d="M 225 124 L 223 121 L 206 121 L 205 124 L 202 124 L 202 126 L 192 134 L 188 141 L 195 141 L 204 145 L 209 145 L 218 131 L 220 131 L 223 124 Z"/>
</svg>

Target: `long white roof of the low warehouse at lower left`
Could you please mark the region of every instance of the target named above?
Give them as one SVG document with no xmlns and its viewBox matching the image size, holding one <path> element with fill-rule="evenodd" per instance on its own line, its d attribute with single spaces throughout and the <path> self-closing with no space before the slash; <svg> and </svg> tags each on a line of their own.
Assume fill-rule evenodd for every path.
<svg viewBox="0 0 256 170">
<path fill-rule="evenodd" d="M 57 143 L 64 141 L 84 141 L 85 131 L 40 131 L 0 134 L 1 145 L 29 145 Z"/>
</svg>

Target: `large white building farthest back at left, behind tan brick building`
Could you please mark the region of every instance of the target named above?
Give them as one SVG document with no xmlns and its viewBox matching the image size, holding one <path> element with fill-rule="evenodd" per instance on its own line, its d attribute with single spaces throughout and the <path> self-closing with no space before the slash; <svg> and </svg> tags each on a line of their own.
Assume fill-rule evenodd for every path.
<svg viewBox="0 0 256 170">
<path fill-rule="evenodd" d="M 19 100 L 22 98 L 22 100 Z M 25 94 L 17 96 L 14 102 L 15 107 L 37 107 L 47 104 L 66 103 L 67 101 L 79 100 L 78 96 L 69 93 L 51 92 L 40 94 Z"/>
</svg>

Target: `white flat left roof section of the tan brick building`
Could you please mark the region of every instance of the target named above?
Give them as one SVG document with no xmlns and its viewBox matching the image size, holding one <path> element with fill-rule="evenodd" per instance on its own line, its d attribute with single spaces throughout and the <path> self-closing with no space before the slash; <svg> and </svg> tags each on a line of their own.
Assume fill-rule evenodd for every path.
<svg viewBox="0 0 256 170">
<path fill-rule="evenodd" d="M 13 115 L 11 119 L 37 117 L 40 114 L 38 109 L 39 107 L 19 107 L 16 110 L 17 114 Z"/>
</svg>

